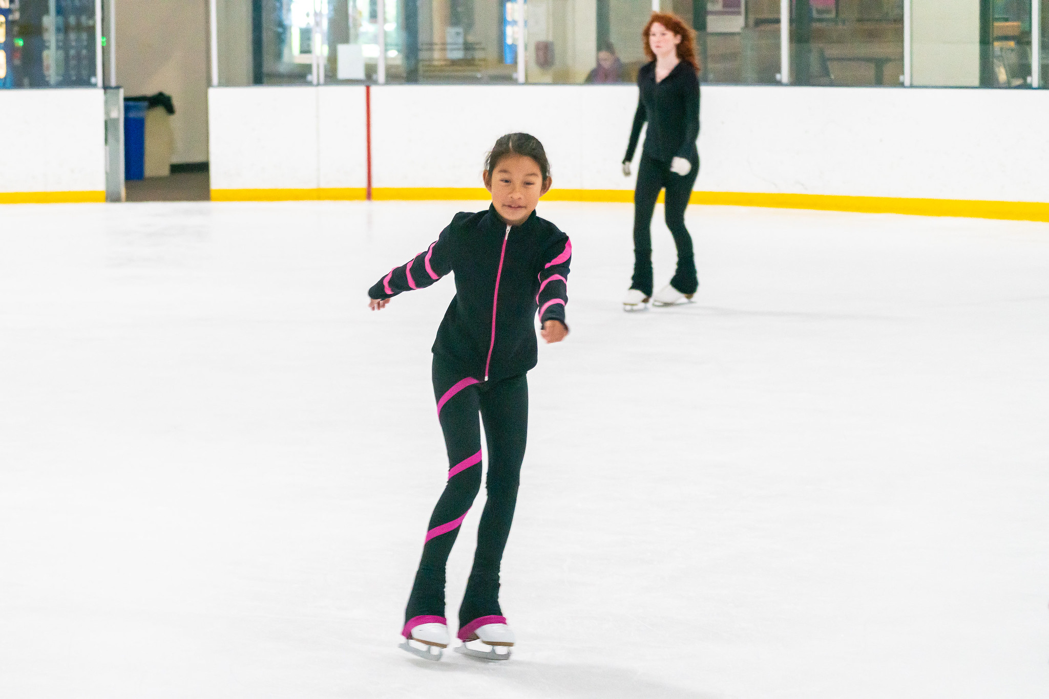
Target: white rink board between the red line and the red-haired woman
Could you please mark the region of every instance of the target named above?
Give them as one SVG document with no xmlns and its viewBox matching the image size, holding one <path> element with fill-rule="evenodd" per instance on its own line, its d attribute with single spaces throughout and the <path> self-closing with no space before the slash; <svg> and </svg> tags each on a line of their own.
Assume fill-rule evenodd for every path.
<svg viewBox="0 0 1049 699">
<path fill-rule="evenodd" d="M 630 86 L 374 87 L 372 184 L 483 187 L 485 154 L 495 139 L 524 131 L 545 147 L 555 187 L 633 189 L 617 163 L 626 151 L 636 94 Z M 594 124 L 594 114 L 603 121 Z"/>
</svg>

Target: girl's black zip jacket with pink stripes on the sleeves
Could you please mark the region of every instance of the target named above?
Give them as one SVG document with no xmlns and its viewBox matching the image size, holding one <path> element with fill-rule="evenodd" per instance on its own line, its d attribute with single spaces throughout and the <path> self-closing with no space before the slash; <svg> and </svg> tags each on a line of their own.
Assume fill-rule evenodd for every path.
<svg viewBox="0 0 1049 699">
<path fill-rule="evenodd" d="M 455 272 L 455 298 L 433 343 L 433 353 L 464 377 L 498 380 L 535 367 L 540 322 L 564 323 L 572 242 L 536 216 L 521 225 L 502 222 L 494 206 L 459 213 L 441 237 L 368 289 L 372 299 L 430 286 Z"/>
</svg>

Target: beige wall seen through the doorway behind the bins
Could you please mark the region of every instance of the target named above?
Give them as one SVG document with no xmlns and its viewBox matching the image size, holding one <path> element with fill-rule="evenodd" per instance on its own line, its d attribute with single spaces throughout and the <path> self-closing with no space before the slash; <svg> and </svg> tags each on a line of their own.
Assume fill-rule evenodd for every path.
<svg viewBox="0 0 1049 699">
<path fill-rule="evenodd" d="M 208 159 L 208 0 L 116 0 L 116 83 L 175 103 L 172 162 Z"/>
</svg>

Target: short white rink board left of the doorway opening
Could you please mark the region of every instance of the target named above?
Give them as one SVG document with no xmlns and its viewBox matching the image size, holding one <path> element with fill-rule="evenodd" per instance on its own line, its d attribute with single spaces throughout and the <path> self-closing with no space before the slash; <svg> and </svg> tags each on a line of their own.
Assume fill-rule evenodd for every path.
<svg viewBox="0 0 1049 699">
<path fill-rule="evenodd" d="M 0 90 L 0 193 L 105 192 L 102 90 Z"/>
</svg>

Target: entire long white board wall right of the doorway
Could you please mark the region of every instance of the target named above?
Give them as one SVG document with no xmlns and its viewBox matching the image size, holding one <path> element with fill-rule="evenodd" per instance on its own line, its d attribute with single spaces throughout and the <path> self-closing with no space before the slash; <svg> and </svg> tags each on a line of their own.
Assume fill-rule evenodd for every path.
<svg viewBox="0 0 1049 699">
<path fill-rule="evenodd" d="M 363 187 L 323 175 L 363 179 L 363 95 L 212 90 L 213 187 Z M 555 188 L 630 190 L 636 100 L 629 85 L 373 87 L 372 184 L 479 188 L 495 138 L 528 131 Z M 1047 113 L 1049 90 L 707 86 L 697 190 L 1046 202 Z"/>
</svg>

